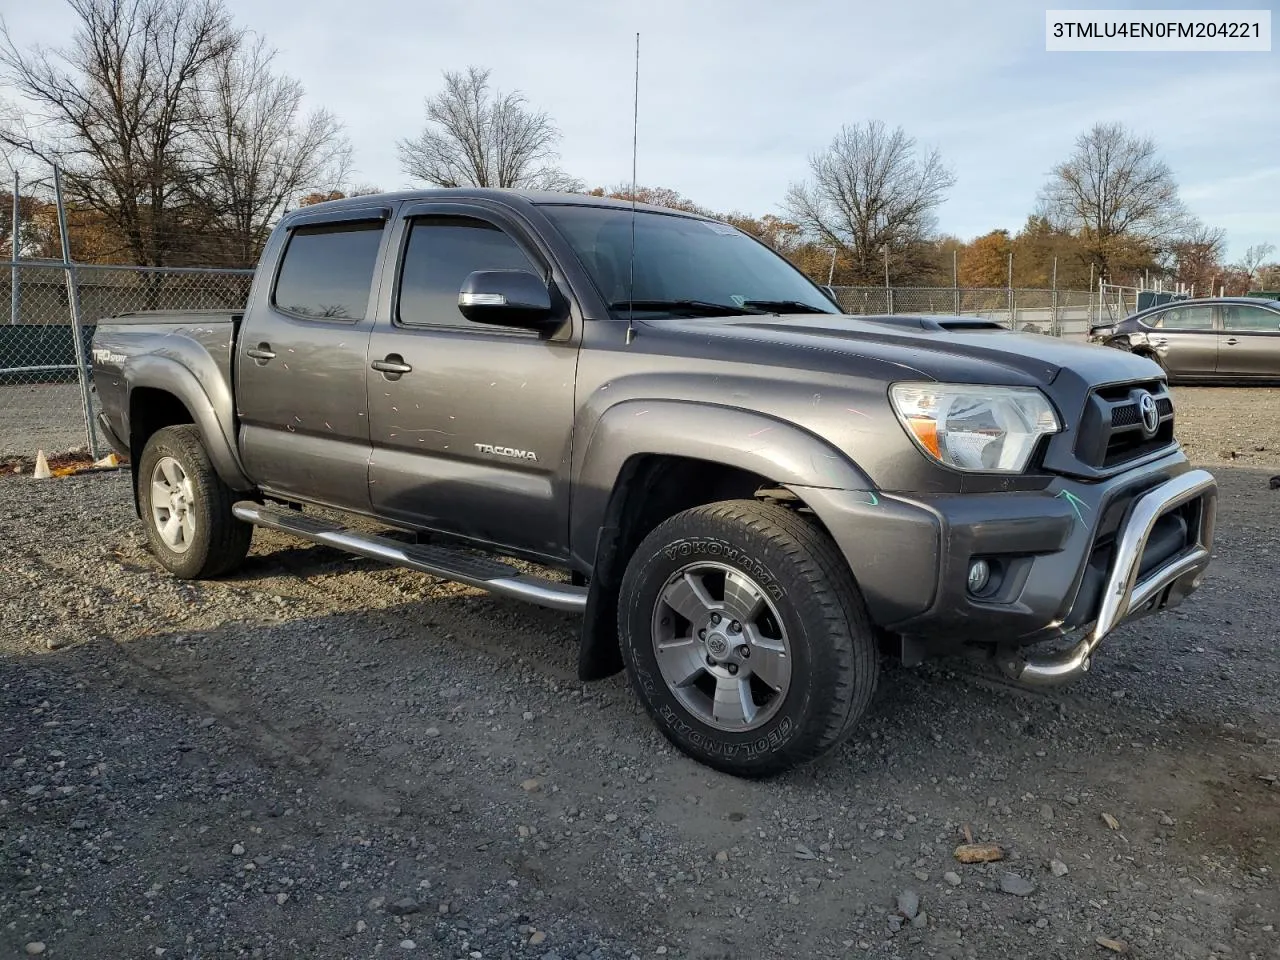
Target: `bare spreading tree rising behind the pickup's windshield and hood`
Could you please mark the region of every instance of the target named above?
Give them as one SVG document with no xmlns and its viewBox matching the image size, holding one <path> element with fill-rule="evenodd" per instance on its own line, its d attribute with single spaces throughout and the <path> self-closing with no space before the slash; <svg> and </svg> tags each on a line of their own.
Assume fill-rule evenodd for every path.
<svg viewBox="0 0 1280 960">
<path fill-rule="evenodd" d="M 934 210 L 955 177 L 938 151 L 879 120 L 841 128 L 809 157 L 810 180 L 787 191 L 786 211 L 814 241 L 836 247 L 855 284 L 883 282 L 886 251 L 893 274 L 910 274 L 922 241 L 937 224 Z"/>
</svg>

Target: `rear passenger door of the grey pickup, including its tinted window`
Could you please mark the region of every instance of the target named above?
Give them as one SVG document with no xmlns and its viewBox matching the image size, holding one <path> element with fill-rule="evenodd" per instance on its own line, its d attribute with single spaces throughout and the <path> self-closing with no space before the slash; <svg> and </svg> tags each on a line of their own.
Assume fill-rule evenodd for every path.
<svg viewBox="0 0 1280 960">
<path fill-rule="evenodd" d="M 369 509 L 365 369 L 387 212 L 302 216 L 264 252 L 276 268 L 241 329 L 236 401 L 244 466 L 269 493 Z"/>
</svg>

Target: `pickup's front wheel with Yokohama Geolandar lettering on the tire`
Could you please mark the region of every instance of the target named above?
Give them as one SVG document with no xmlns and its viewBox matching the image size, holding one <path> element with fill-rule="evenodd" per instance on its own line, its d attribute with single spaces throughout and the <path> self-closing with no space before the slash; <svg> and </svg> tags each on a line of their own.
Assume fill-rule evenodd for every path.
<svg viewBox="0 0 1280 960">
<path fill-rule="evenodd" d="M 820 756 L 876 690 L 876 636 L 849 567 L 774 504 L 728 500 L 660 524 L 627 564 L 618 632 L 658 728 L 726 773 Z"/>
</svg>

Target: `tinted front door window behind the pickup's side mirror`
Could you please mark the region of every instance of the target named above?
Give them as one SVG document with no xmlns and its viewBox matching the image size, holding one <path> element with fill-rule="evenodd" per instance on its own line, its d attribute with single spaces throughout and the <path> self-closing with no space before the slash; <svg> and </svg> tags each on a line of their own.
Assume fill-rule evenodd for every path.
<svg viewBox="0 0 1280 960">
<path fill-rule="evenodd" d="M 475 270 L 529 270 L 539 276 L 544 273 L 515 239 L 486 220 L 470 216 L 413 220 L 401 270 L 397 319 L 407 326 L 481 326 L 458 310 L 462 282 Z"/>
</svg>

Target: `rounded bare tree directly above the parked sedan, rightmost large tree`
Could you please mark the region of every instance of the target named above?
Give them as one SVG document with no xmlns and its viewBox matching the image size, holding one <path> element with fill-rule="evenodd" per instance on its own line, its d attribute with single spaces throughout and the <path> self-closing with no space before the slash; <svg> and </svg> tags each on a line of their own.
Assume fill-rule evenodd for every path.
<svg viewBox="0 0 1280 960">
<path fill-rule="evenodd" d="M 1094 124 L 1053 168 L 1044 212 L 1080 237 L 1100 276 L 1157 256 L 1187 225 L 1187 211 L 1156 143 L 1119 123 Z"/>
</svg>

